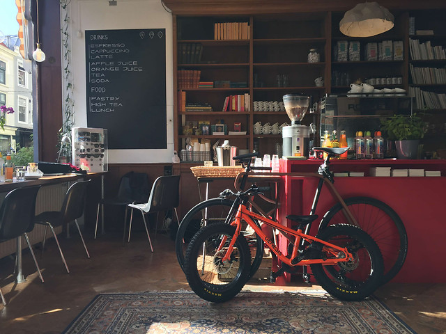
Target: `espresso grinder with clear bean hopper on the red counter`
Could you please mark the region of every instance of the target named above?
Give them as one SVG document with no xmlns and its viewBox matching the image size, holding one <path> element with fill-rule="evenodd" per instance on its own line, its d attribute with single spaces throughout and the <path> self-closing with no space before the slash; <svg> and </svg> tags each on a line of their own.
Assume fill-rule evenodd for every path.
<svg viewBox="0 0 446 334">
<path fill-rule="evenodd" d="M 314 127 L 301 125 L 300 121 L 307 113 L 309 96 L 299 94 L 284 95 L 284 106 L 291 125 L 282 128 L 283 157 L 305 159 L 309 155 L 309 136 Z"/>
</svg>

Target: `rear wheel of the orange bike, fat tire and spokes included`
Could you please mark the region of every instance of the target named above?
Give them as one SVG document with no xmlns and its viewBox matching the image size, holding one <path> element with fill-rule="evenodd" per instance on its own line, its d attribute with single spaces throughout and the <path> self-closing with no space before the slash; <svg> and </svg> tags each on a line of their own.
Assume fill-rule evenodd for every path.
<svg viewBox="0 0 446 334">
<path fill-rule="evenodd" d="M 321 230 L 317 237 L 347 250 L 353 260 L 334 265 L 311 264 L 314 278 L 332 296 L 346 301 L 360 301 L 372 294 L 383 276 L 383 257 L 374 239 L 353 225 L 338 224 Z M 338 254 L 324 252 L 327 258 Z"/>
</svg>

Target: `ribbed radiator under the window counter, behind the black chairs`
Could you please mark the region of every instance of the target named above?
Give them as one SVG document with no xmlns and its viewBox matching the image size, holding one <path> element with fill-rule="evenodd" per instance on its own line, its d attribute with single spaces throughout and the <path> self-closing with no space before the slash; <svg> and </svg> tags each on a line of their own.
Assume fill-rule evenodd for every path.
<svg viewBox="0 0 446 334">
<path fill-rule="evenodd" d="M 39 189 L 36 199 L 36 214 L 45 211 L 60 211 L 62 207 L 63 198 L 67 191 L 67 184 L 54 184 L 52 186 L 43 186 Z M 6 193 L 1 193 L 1 200 L 5 198 Z M 31 244 L 37 244 L 43 240 L 45 226 L 34 225 L 34 230 L 28 233 Z M 55 228 L 56 233 L 62 231 L 62 227 Z M 52 232 L 47 229 L 47 238 L 52 237 Z M 28 245 L 24 237 L 22 239 L 22 248 L 27 248 Z M 11 255 L 16 251 L 16 240 L 8 240 L 0 243 L 0 258 Z"/>
</svg>

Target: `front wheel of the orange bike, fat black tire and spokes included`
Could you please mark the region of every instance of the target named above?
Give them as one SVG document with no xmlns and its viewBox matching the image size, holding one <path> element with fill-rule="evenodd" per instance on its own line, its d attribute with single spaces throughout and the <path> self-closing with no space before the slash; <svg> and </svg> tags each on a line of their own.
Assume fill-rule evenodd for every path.
<svg viewBox="0 0 446 334">
<path fill-rule="evenodd" d="M 251 256 L 243 235 L 236 239 L 229 259 L 222 261 L 235 232 L 235 226 L 214 223 L 199 230 L 187 247 L 187 282 L 206 301 L 228 301 L 247 281 Z"/>
</svg>

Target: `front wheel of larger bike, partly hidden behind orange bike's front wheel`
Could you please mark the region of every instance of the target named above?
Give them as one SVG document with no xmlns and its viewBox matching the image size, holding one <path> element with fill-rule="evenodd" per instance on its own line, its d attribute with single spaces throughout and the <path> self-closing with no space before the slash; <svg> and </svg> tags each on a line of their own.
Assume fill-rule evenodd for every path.
<svg viewBox="0 0 446 334">
<path fill-rule="evenodd" d="M 233 200 L 229 200 L 227 198 L 211 198 L 210 200 L 205 200 L 195 205 L 184 216 L 183 220 L 178 226 L 175 239 L 176 257 L 183 271 L 185 270 L 185 254 L 190 239 L 192 239 L 194 234 L 196 234 L 206 225 L 224 223 L 224 221 L 226 221 L 226 217 L 231 211 L 232 205 Z M 243 228 L 246 227 L 247 224 L 243 224 Z M 252 229 L 243 230 L 243 234 L 248 241 L 249 250 L 252 254 L 251 269 L 249 270 L 248 277 L 249 279 L 260 267 L 263 259 L 264 244 L 261 237 L 254 233 L 254 230 Z"/>
</svg>

